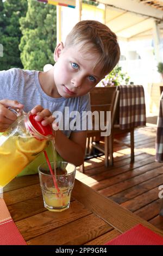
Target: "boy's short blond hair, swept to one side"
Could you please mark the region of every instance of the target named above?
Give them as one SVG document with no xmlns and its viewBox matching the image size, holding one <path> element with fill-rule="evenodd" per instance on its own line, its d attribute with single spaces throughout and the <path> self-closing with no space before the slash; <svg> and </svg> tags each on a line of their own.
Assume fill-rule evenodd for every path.
<svg viewBox="0 0 163 256">
<path fill-rule="evenodd" d="M 106 75 L 114 69 L 120 59 L 120 47 L 117 36 L 109 27 L 101 22 L 85 20 L 78 22 L 67 35 L 65 48 L 81 45 L 87 51 L 99 53 L 98 65 L 102 66 L 102 74 Z"/>
</svg>

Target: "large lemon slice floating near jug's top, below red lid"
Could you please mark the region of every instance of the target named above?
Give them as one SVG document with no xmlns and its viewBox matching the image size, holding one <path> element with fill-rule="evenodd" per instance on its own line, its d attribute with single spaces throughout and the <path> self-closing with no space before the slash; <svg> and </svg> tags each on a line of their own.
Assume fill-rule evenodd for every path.
<svg viewBox="0 0 163 256">
<path fill-rule="evenodd" d="M 16 147 L 23 153 L 39 153 L 45 148 L 46 141 L 39 141 L 33 137 L 19 137 L 16 141 Z"/>
</svg>

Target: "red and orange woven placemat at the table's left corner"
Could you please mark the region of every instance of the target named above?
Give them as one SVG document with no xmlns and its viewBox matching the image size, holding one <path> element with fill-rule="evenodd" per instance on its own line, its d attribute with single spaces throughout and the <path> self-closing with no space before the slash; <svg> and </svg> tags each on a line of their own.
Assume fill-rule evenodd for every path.
<svg viewBox="0 0 163 256">
<path fill-rule="evenodd" d="M 0 234 L 0 245 L 27 245 L 2 198 L 0 198 Z"/>
</svg>

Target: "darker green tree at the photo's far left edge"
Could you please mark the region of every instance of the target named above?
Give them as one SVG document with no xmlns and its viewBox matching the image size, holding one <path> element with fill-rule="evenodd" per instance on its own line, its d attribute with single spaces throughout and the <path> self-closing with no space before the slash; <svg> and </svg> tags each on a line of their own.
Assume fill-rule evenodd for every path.
<svg viewBox="0 0 163 256">
<path fill-rule="evenodd" d="M 0 58 L 0 70 L 12 67 L 22 68 L 18 45 L 22 33 L 20 17 L 27 11 L 27 0 L 5 0 L 0 2 L 0 43 L 3 45 L 3 57 Z"/>
</svg>

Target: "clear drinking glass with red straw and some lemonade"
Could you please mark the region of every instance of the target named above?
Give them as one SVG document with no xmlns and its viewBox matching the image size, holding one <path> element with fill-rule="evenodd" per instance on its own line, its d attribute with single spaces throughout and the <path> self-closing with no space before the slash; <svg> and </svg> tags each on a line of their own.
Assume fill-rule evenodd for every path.
<svg viewBox="0 0 163 256">
<path fill-rule="evenodd" d="M 40 164 L 39 179 L 45 208 L 61 212 L 69 208 L 74 186 L 76 166 L 64 161 L 56 161 L 56 174 L 51 168 L 54 162 Z"/>
</svg>

